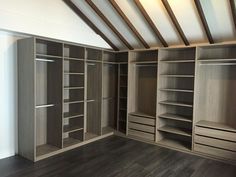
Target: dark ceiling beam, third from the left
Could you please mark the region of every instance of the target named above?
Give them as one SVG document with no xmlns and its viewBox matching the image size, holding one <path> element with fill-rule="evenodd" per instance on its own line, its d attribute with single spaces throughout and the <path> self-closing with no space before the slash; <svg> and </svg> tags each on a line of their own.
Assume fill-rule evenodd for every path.
<svg viewBox="0 0 236 177">
<path fill-rule="evenodd" d="M 121 10 L 119 5 L 115 2 L 115 0 L 109 0 L 109 2 L 112 5 L 112 7 L 116 10 L 116 12 L 120 15 L 120 17 L 124 20 L 124 22 L 127 24 L 130 30 L 134 33 L 134 35 L 143 44 L 143 46 L 147 49 L 150 48 L 150 46 L 147 44 L 147 42 L 144 40 L 144 38 L 141 36 L 138 30 L 134 27 L 134 25 L 131 23 L 128 17 L 124 14 L 124 12 Z"/>
</svg>

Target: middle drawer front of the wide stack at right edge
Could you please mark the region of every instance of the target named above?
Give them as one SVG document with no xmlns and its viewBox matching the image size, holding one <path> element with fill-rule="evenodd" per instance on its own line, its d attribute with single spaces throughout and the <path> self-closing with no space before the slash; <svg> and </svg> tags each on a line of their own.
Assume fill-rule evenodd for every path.
<svg viewBox="0 0 236 177">
<path fill-rule="evenodd" d="M 216 147 L 216 148 L 236 151 L 236 143 L 235 142 L 224 141 L 224 140 L 219 140 L 219 139 L 214 139 L 214 138 L 209 138 L 209 137 L 204 137 L 204 136 L 198 136 L 198 135 L 194 136 L 194 142 L 199 143 L 199 144 L 212 146 L 212 147 Z"/>
</svg>

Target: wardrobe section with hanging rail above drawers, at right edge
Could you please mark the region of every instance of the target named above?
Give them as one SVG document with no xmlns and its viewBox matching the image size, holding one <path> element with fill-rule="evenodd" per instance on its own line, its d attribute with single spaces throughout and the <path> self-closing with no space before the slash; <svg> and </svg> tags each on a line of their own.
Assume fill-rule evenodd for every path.
<svg viewBox="0 0 236 177">
<path fill-rule="evenodd" d="M 236 45 L 198 48 L 194 150 L 236 160 Z"/>
</svg>

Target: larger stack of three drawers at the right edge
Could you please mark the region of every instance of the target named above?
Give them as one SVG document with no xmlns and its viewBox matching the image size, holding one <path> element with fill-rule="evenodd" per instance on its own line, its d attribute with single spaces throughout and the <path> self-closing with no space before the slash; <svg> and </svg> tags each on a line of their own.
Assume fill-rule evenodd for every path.
<svg viewBox="0 0 236 177">
<path fill-rule="evenodd" d="M 222 124 L 200 121 L 195 126 L 194 150 L 236 160 L 236 131 Z"/>
</svg>

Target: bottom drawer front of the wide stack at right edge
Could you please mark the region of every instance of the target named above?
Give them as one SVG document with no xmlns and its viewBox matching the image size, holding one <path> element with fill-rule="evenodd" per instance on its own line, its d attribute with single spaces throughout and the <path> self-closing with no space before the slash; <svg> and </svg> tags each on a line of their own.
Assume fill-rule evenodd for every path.
<svg viewBox="0 0 236 177">
<path fill-rule="evenodd" d="M 218 149 L 214 147 L 194 144 L 194 150 L 200 153 L 216 156 L 223 159 L 236 160 L 236 152 Z"/>
</svg>

